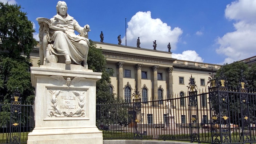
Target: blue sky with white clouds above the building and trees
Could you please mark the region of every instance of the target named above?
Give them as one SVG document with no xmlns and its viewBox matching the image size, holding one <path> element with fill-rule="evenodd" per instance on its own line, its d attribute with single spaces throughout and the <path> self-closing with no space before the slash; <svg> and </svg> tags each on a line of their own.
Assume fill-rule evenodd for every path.
<svg viewBox="0 0 256 144">
<path fill-rule="evenodd" d="M 0 0 L 6 2 L 7 0 Z M 37 17 L 56 15 L 57 0 L 8 0 L 27 12 L 35 25 Z M 127 46 L 168 51 L 172 57 L 203 63 L 224 64 L 256 55 L 256 0 L 66 0 L 68 14 L 83 27 L 89 24 L 89 39 L 117 44 L 121 35 Z"/>
</svg>

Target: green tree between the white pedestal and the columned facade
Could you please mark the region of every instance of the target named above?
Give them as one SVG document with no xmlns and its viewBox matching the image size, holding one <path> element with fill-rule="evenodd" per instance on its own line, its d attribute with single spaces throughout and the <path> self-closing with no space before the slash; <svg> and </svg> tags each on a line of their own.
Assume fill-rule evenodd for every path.
<svg viewBox="0 0 256 144">
<path fill-rule="evenodd" d="M 113 75 L 112 69 L 107 69 L 106 59 L 100 48 L 90 40 L 88 52 L 88 69 L 93 72 L 102 72 L 101 79 L 96 82 L 96 123 L 100 128 L 107 129 L 110 124 L 127 125 L 128 124 L 128 105 L 117 104 L 123 103 L 122 99 L 117 99 L 109 89 L 111 83 L 110 76 Z"/>
</svg>

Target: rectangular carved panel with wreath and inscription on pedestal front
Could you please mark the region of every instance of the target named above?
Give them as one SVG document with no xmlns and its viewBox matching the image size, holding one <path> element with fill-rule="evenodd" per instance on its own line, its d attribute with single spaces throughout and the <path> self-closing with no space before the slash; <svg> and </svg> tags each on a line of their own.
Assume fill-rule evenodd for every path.
<svg viewBox="0 0 256 144">
<path fill-rule="evenodd" d="M 88 89 L 47 88 L 46 118 L 87 117 Z"/>
</svg>

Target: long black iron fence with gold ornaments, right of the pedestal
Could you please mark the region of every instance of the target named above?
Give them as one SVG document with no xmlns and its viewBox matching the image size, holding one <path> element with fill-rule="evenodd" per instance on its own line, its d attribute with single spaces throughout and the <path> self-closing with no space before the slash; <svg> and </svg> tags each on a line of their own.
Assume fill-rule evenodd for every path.
<svg viewBox="0 0 256 144">
<path fill-rule="evenodd" d="M 256 93 L 211 87 L 173 99 L 97 104 L 103 139 L 159 139 L 197 143 L 256 143 Z"/>
</svg>

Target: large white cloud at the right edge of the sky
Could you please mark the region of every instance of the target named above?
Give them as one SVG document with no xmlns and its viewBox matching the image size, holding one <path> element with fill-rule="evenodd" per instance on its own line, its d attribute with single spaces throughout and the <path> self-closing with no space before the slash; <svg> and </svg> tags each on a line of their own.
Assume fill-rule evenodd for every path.
<svg viewBox="0 0 256 144">
<path fill-rule="evenodd" d="M 217 38 L 216 52 L 227 56 L 223 63 L 232 63 L 256 55 L 256 0 L 239 0 L 228 4 L 225 16 L 235 20 L 235 31 Z"/>
</svg>

